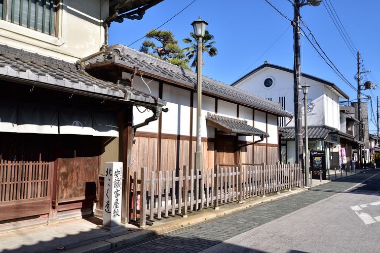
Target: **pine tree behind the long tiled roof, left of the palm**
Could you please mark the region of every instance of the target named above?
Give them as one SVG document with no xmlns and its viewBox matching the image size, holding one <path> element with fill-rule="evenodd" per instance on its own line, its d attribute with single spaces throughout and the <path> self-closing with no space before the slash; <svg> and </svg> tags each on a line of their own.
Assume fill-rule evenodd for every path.
<svg viewBox="0 0 380 253">
<path fill-rule="evenodd" d="M 183 50 L 178 45 L 178 41 L 174 38 L 171 31 L 166 30 L 150 30 L 146 33 L 148 39 L 144 40 L 140 52 L 157 57 L 161 60 L 170 62 L 174 65 L 189 69 L 188 59 Z M 153 40 L 157 40 L 161 45 L 156 45 Z"/>
</svg>

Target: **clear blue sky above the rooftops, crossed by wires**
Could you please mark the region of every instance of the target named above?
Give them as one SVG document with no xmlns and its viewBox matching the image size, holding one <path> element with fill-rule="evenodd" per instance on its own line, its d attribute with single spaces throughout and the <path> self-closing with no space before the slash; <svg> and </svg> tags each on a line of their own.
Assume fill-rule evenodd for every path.
<svg viewBox="0 0 380 253">
<path fill-rule="evenodd" d="M 293 7 L 288 0 L 268 1 L 286 17 L 293 19 Z M 380 81 L 378 64 L 380 1 L 324 1 L 325 3 L 318 7 L 302 7 L 302 20 L 313 32 L 318 44 L 332 63 L 354 87 L 357 87 L 354 75 L 357 72 L 356 51 L 359 51 L 365 70 L 371 70 L 371 73 L 363 74 L 363 80 L 371 80 L 374 85 L 377 80 Z M 348 34 L 347 40 L 355 47 L 353 50 L 346 45 L 326 10 L 328 6 L 331 8 L 331 5 L 333 7 L 331 10 L 337 14 Z M 178 14 L 186 6 L 188 7 Z M 215 57 L 204 55 L 203 75 L 230 85 L 265 60 L 293 68 L 293 31 L 290 22 L 265 0 L 164 0 L 148 9 L 142 20 L 125 19 L 120 24 L 113 22 L 110 27 L 109 43 L 128 46 L 176 14 L 178 15 L 160 29 L 171 30 L 181 47 L 185 47 L 181 40 L 193 31 L 190 24 L 198 19 L 198 16 L 209 23 L 207 29 L 215 36 L 218 55 Z M 305 26 L 301 27 L 307 31 Z M 309 36 L 312 40 L 309 32 L 305 36 Z M 350 100 L 356 101 L 357 92 L 335 74 L 305 36 L 301 36 L 302 72 L 335 83 L 350 96 Z M 138 50 L 142 41 L 143 39 L 130 47 Z M 374 114 L 372 121 L 376 122 L 376 96 L 380 96 L 380 88 L 362 93 L 372 97 Z M 370 113 L 370 106 L 368 110 Z M 376 126 L 371 122 L 370 114 L 368 117 L 369 131 L 375 133 Z"/>
</svg>

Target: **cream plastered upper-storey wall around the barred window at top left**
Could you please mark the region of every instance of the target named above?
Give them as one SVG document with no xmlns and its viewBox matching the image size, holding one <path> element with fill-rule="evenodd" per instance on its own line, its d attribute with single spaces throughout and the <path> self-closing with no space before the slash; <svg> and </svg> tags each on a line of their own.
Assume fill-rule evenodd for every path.
<svg viewBox="0 0 380 253">
<path fill-rule="evenodd" d="M 104 43 L 102 22 L 106 0 L 61 0 L 56 36 L 0 20 L 0 44 L 75 62 L 99 51 Z"/>
</svg>

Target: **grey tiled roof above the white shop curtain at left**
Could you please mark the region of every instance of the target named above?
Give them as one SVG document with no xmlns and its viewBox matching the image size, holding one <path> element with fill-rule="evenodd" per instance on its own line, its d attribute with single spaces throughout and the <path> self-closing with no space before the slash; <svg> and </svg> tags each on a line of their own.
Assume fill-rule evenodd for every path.
<svg viewBox="0 0 380 253">
<path fill-rule="evenodd" d="M 0 45 L 0 78 L 13 77 L 56 88 L 66 88 L 155 104 L 155 98 L 128 87 L 97 79 L 73 63 Z"/>
</svg>

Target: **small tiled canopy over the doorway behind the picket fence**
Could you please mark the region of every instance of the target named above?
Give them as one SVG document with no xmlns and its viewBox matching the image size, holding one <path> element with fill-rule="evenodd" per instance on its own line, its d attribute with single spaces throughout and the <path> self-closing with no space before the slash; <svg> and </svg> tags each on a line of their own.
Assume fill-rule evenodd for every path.
<svg viewBox="0 0 380 253">
<path fill-rule="evenodd" d="M 247 120 L 224 117 L 208 112 L 206 116 L 206 122 L 207 121 L 209 124 L 211 122 L 212 125 L 227 134 L 235 133 L 238 135 L 269 137 L 269 135 L 264 131 L 248 125 Z"/>
</svg>

